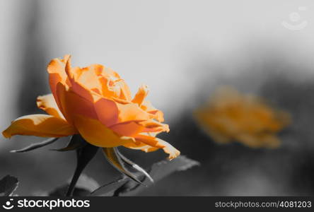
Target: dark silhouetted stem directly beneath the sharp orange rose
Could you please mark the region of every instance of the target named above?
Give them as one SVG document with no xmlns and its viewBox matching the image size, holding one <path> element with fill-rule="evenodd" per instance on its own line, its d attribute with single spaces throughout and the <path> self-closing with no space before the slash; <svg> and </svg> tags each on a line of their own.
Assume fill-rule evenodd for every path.
<svg viewBox="0 0 314 212">
<path fill-rule="evenodd" d="M 69 189 L 66 192 L 66 196 L 72 196 L 75 186 L 76 186 L 76 182 L 78 181 L 81 173 L 83 172 L 84 168 L 86 167 L 86 165 L 88 165 L 88 163 L 91 161 L 91 159 L 93 159 L 93 157 L 95 156 L 95 154 L 98 151 L 98 147 L 97 146 L 93 146 L 89 143 L 86 143 L 85 146 L 79 148 L 76 150 L 76 158 L 77 158 L 77 164 L 76 164 L 76 169 L 74 172 L 74 175 L 71 179 L 71 183 L 69 185 Z"/>
</svg>

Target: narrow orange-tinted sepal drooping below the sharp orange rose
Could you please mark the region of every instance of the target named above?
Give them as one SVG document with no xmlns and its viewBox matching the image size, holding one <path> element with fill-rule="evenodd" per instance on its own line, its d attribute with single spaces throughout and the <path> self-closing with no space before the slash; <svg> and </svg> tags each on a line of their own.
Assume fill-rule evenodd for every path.
<svg viewBox="0 0 314 212">
<path fill-rule="evenodd" d="M 119 153 L 117 153 L 117 148 L 103 148 L 103 153 L 108 162 L 118 171 L 122 172 L 124 175 L 127 175 L 127 177 L 133 179 L 135 182 L 142 184 L 142 182 L 137 179 L 137 176 L 134 175 L 134 173 L 127 170 L 127 167 L 124 165 L 124 161 L 120 157 Z"/>
</svg>

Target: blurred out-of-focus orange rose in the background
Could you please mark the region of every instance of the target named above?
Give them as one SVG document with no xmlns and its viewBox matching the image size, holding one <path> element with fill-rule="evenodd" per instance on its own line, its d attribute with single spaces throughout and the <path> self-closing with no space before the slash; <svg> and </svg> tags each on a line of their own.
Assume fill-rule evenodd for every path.
<svg viewBox="0 0 314 212">
<path fill-rule="evenodd" d="M 238 141 L 252 148 L 276 148 L 276 136 L 289 125 L 290 115 L 275 110 L 261 98 L 220 88 L 204 107 L 195 110 L 203 129 L 218 143 Z"/>
</svg>

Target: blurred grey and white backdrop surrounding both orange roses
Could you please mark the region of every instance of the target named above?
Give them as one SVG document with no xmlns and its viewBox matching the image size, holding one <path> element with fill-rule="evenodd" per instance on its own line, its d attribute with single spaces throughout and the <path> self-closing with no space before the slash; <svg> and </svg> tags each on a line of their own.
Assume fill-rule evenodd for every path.
<svg viewBox="0 0 314 212">
<path fill-rule="evenodd" d="M 35 100 L 50 93 L 48 62 L 71 54 L 76 66 L 115 69 L 133 93 L 149 85 L 149 100 L 170 124 L 161 137 L 202 164 L 141 195 L 313 195 L 313 10 L 313 1 L 297 0 L 0 1 L 0 129 L 21 115 L 41 113 Z M 306 26 L 291 30 L 283 21 Z M 280 148 L 219 145 L 199 128 L 192 112 L 221 85 L 291 113 Z M 20 195 L 51 191 L 74 172 L 75 153 L 49 151 L 66 139 L 9 153 L 37 141 L 42 139 L 0 139 L 0 177 L 18 177 Z M 122 151 L 143 167 L 165 158 L 161 151 Z M 101 153 L 85 173 L 99 184 L 120 175 Z"/>
</svg>

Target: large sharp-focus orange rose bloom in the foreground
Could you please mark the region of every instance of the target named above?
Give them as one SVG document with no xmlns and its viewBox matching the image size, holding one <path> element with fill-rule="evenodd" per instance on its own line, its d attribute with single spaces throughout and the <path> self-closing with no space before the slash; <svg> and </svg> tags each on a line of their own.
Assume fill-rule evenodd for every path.
<svg viewBox="0 0 314 212">
<path fill-rule="evenodd" d="M 47 67 L 52 94 L 37 98 L 37 106 L 47 114 L 20 117 L 3 131 L 14 135 L 62 137 L 81 134 L 93 146 L 125 146 L 141 151 L 163 148 L 169 158 L 180 151 L 156 138 L 169 131 L 163 112 L 145 100 L 148 90 L 141 86 L 132 98 L 119 74 L 100 64 L 71 67 L 71 58 L 53 59 Z"/>
</svg>

